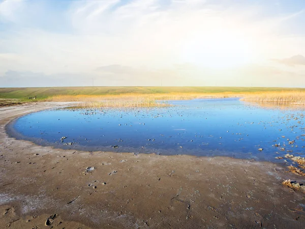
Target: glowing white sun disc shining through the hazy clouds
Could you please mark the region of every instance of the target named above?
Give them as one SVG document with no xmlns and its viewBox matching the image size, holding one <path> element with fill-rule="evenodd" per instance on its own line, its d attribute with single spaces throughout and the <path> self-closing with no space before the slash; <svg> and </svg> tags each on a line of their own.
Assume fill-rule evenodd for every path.
<svg viewBox="0 0 305 229">
<path fill-rule="evenodd" d="M 186 62 L 207 68 L 250 64 L 255 56 L 251 40 L 236 31 L 220 28 L 191 38 L 185 46 Z"/>
</svg>

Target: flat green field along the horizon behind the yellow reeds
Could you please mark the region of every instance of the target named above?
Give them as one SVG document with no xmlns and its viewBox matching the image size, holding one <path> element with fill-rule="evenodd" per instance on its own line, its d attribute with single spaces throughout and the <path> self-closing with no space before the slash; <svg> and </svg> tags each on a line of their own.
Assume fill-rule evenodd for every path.
<svg viewBox="0 0 305 229">
<path fill-rule="evenodd" d="M 37 96 L 45 99 L 54 95 L 117 95 L 126 93 L 243 93 L 282 90 L 302 90 L 304 88 L 241 88 L 241 87 L 62 87 L 62 88 L 0 88 L 2 99 L 25 99 Z"/>
</svg>

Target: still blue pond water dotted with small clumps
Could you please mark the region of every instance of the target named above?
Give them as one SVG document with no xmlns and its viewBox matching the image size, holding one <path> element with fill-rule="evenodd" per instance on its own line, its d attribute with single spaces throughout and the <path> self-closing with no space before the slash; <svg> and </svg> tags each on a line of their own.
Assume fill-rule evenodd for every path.
<svg viewBox="0 0 305 229">
<path fill-rule="evenodd" d="M 304 107 L 265 108 L 232 98 L 169 103 L 174 106 L 45 110 L 17 119 L 13 128 L 19 138 L 64 149 L 270 161 L 305 156 Z"/>
</svg>

